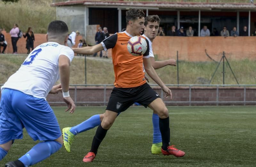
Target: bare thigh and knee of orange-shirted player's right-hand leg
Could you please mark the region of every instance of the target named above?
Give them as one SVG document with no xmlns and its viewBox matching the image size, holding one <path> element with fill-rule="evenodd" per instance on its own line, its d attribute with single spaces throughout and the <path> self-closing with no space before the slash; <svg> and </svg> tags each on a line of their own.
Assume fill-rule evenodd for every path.
<svg viewBox="0 0 256 167">
<path fill-rule="evenodd" d="M 160 118 L 167 118 L 169 116 L 168 109 L 164 105 L 164 102 L 162 99 L 157 98 L 154 101 L 152 101 L 148 107 L 150 107 L 153 111 L 158 114 Z"/>
</svg>

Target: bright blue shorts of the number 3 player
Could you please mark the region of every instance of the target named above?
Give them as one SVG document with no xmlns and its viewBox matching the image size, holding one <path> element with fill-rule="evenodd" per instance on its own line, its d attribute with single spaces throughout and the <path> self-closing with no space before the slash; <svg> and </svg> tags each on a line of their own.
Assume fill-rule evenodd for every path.
<svg viewBox="0 0 256 167">
<path fill-rule="evenodd" d="M 5 88 L 0 101 L 0 144 L 22 139 L 24 127 L 35 141 L 61 136 L 59 123 L 47 101 Z"/>
</svg>

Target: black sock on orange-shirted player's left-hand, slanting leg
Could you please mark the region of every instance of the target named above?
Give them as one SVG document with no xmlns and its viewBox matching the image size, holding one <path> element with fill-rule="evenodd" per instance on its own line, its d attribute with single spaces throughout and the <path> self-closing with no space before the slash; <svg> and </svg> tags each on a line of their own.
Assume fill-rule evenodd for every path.
<svg viewBox="0 0 256 167">
<path fill-rule="evenodd" d="M 103 129 L 101 124 L 98 126 L 97 131 L 92 140 L 92 147 L 90 152 L 97 154 L 100 143 L 105 138 L 107 131 L 108 129 Z"/>
</svg>

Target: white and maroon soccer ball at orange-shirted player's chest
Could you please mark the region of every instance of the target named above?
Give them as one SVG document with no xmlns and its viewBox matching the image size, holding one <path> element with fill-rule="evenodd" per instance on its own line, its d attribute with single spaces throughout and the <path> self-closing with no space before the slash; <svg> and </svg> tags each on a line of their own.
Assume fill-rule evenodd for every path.
<svg viewBox="0 0 256 167">
<path fill-rule="evenodd" d="M 147 51 L 147 42 L 140 36 L 133 36 L 127 44 L 128 52 L 133 56 L 141 56 Z"/>
</svg>

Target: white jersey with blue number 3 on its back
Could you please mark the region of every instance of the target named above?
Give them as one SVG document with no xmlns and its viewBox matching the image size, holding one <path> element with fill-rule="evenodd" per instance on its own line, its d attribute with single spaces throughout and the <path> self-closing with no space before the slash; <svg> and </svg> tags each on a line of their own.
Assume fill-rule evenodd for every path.
<svg viewBox="0 0 256 167">
<path fill-rule="evenodd" d="M 44 98 L 60 78 L 59 56 L 65 55 L 70 62 L 74 52 L 68 46 L 47 42 L 37 46 L 16 71 L 1 87 L 21 91 L 36 98 Z"/>
</svg>

